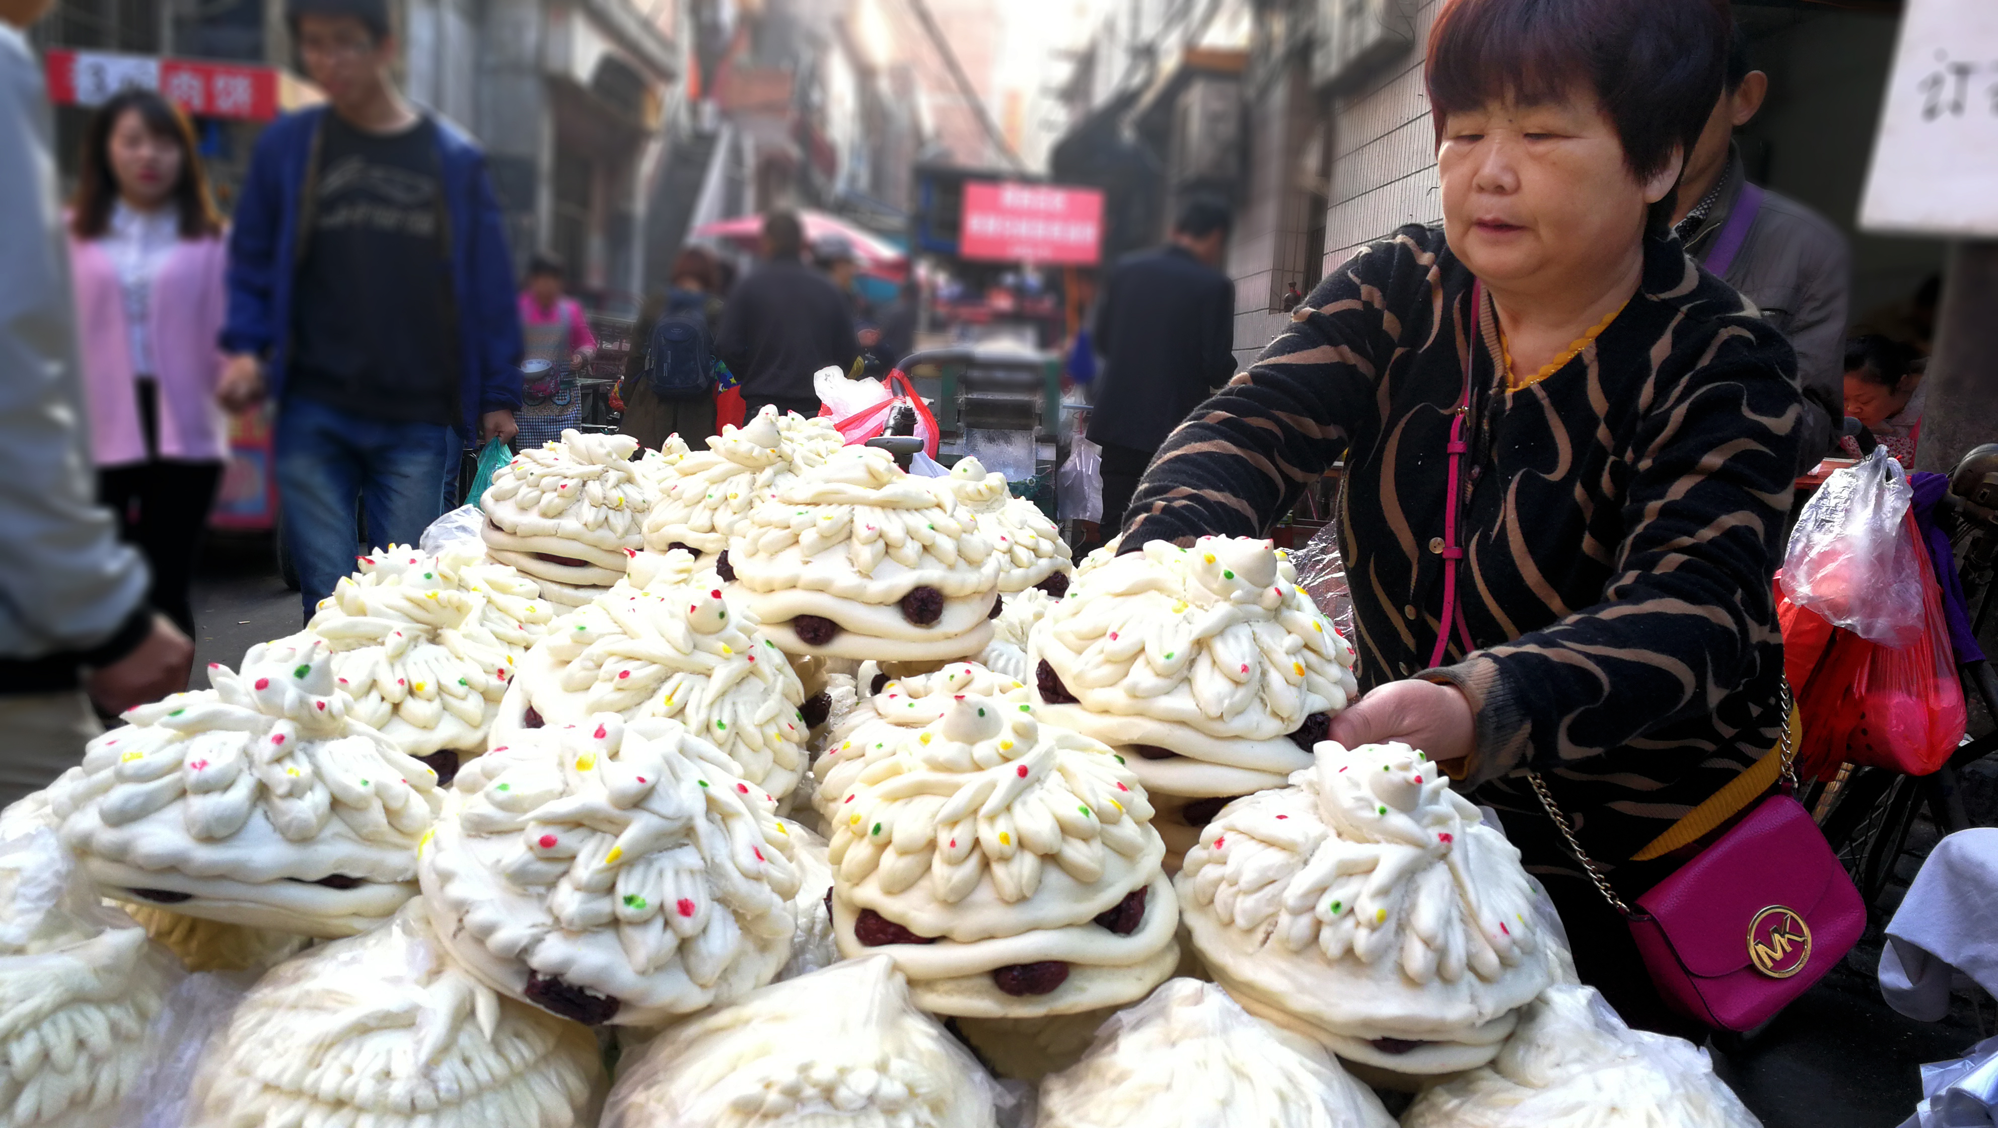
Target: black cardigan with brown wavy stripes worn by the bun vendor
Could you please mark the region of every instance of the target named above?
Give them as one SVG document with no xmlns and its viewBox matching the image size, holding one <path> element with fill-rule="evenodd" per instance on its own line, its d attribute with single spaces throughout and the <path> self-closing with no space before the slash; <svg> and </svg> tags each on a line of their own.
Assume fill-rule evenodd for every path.
<svg viewBox="0 0 1998 1128">
<path fill-rule="evenodd" d="M 1770 575 L 1798 461 L 1796 361 L 1676 240 L 1646 238 L 1638 293 L 1596 341 L 1504 391 L 1489 299 L 1467 333 L 1471 287 L 1441 228 L 1403 228 L 1341 266 L 1173 431 L 1123 551 L 1263 535 L 1343 457 L 1361 685 L 1463 689 L 1477 799 L 1538 813 L 1522 779 L 1538 769 L 1584 846 L 1614 862 L 1780 735 Z M 1425 669 L 1467 339 L 1459 593 L 1477 649 L 1453 637 L 1447 665 Z"/>
</svg>

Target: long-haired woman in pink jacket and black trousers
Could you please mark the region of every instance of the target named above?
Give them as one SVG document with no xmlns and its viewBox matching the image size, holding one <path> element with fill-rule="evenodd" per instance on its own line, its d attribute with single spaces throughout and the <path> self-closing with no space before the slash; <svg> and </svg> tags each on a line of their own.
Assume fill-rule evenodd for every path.
<svg viewBox="0 0 1998 1128">
<path fill-rule="evenodd" d="M 188 585 L 228 457 L 216 403 L 222 220 L 188 118 L 150 90 L 104 104 L 70 208 L 98 499 L 152 565 L 152 605 L 194 635 Z"/>
</svg>

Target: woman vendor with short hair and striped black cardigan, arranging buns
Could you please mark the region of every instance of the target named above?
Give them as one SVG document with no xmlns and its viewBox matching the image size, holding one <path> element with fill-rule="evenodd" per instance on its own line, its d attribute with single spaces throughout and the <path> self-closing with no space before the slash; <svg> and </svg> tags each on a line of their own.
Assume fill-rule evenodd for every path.
<svg viewBox="0 0 1998 1128">
<path fill-rule="evenodd" d="M 1261 535 L 1345 459 L 1367 695 L 1333 737 L 1459 775 L 1546 882 L 1582 978 L 1664 1030 L 1682 1022 L 1528 773 L 1628 900 L 1718 827 L 1660 837 L 1782 735 L 1794 357 L 1666 226 L 1728 32 L 1712 0 L 1447 2 L 1443 226 L 1327 278 L 1167 439 L 1123 539 Z"/>
</svg>

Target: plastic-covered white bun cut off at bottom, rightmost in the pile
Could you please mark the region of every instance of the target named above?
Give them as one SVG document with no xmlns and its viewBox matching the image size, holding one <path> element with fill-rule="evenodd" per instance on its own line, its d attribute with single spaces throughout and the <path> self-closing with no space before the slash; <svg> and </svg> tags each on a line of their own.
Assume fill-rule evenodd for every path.
<svg viewBox="0 0 1998 1128">
<path fill-rule="evenodd" d="M 1624 1026 L 1590 986 L 1536 998 L 1493 1064 L 1423 1090 L 1403 1128 L 1760 1128 L 1682 1038 Z"/>
</svg>

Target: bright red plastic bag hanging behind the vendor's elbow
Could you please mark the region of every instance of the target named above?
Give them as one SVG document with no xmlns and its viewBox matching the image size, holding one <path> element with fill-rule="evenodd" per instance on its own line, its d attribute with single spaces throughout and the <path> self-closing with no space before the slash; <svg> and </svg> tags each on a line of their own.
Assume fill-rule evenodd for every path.
<svg viewBox="0 0 1998 1128">
<path fill-rule="evenodd" d="M 1912 515 L 1904 519 L 1904 535 L 1916 537 Z M 1840 761 L 1930 775 L 1964 739 L 1968 713 L 1942 589 L 1920 549 L 1918 561 L 1922 633 L 1906 647 L 1884 647 L 1832 627 L 1778 591 L 1784 669 L 1804 717 L 1798 775 L 1830 779 Z"/>
</svg>

